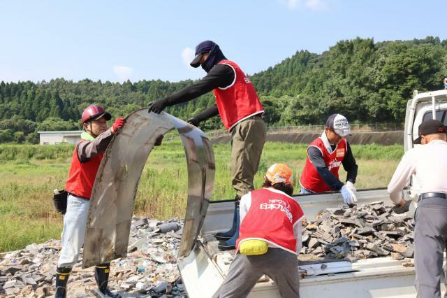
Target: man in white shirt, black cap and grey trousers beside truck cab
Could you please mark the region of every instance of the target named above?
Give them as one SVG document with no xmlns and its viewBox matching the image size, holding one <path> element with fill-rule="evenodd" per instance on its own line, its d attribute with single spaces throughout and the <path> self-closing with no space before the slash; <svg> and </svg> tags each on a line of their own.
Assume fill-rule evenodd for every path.
<svg viewBox="0 0 447 298">
<path fill-rule="evenodd" d="M 416 146 L 405 152 L 388 184 L 390 199 L 404 207 L 402 190 L 414 175 L 420 185 L 414 216 L 414 265 L 418 297 L 441 297 L 442 263 L 447 247 L 447 129 L 439 120 L 427 120 L 418 127 Z M 408 210 L 408 207 L 407 207 Z M 444 295 L 447 297 L 447 294 Z"/>
</svg>

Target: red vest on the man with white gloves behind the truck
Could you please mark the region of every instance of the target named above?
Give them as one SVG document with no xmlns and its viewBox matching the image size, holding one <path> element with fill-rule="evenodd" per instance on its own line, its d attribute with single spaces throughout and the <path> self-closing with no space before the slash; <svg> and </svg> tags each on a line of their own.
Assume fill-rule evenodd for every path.
<svg viewBox="0 0 447 298">
<path fill-rule="evenodd" d="M 328 152 L 321 138 L 313 141 L 310 146 L 307 147 L 307 150 L 309 150 L 310 147 L 316 147 L 321 151 L 324 163 L 328 166 L 329 171 L 338 178 L 338 170 L 342 165 L 344 156 L 346 155 L 346 150 L 348 148 L 346 139 L 342 138 L 342 141 L 338 143 L 337 147 L 332 153 Z M 314 164 L 310 161 L 309 155 L 307 155 L 305 169 L 301 174 L 300 184 L 302 187 L 307 188 L 307 190 L 312 190 L 312 192 L 328 192 L 332 190 L 332 188 L 326 185 L 323 179 L 321 179 L 320 174 L 316 171 Z"/>
</svg>

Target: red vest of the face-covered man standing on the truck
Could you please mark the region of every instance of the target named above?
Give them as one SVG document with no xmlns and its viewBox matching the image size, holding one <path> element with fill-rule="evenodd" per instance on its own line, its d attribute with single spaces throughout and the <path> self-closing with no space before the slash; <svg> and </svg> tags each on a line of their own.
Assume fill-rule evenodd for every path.
<svg viewBox="0 0 447 298">
<path fill-rule="evenodd" d="M 218 64 L 226 64 L 235 71 L 235 79 L 231 85 L 213 90 L 223 125 L 230 130 L 242 120 L 263 113 L 264 108 L 253 84 L 235 62 L 222 60 Z"/>
</svg>

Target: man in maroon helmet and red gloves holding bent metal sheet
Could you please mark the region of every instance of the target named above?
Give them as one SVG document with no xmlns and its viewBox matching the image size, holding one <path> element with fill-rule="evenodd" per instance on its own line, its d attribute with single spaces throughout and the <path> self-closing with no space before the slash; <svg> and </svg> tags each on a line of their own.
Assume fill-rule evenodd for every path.
<svg viewBox="0 0 447 298">
<path fill-rule="evenodd" d="M 126 120 L 117 118 L 108 129 L 107 121 L 112 116 L 102 106 L 92 105 L 82 113 L 81 141 L 76 145 L 71 159 L 71 168 L 66 180 L 68 192 L 67 210 L 64 215 L 62 232 L 62 250 L 56 269 L 57 298 L 66 297 L 68 276 L 71 268 L 78 262 L 80 249 L 84 243 L 91 190 L 103 159 L 114 134 L 124 126 Z M 108 297 L 119 297 L 119 294 L 108 289 L 110 263 L 98 264 L 95 267 L 95 279 L 98 289 Z"/>
</svg>

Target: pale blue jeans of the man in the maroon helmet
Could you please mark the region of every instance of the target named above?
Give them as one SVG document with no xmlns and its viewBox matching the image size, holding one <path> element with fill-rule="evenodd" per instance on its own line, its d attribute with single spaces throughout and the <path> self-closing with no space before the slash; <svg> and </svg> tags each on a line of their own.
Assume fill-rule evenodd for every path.
<svg viewBox="0 0 447 298">
<path fill-rule="evenodd" d="M 68 194 L 64 230 L 61 235 L 62 250 L 57 267 L 71 268 L 78 262 L 79 253 L 84 244 L 89 205 L 88 199 Z"/>
</svg>

